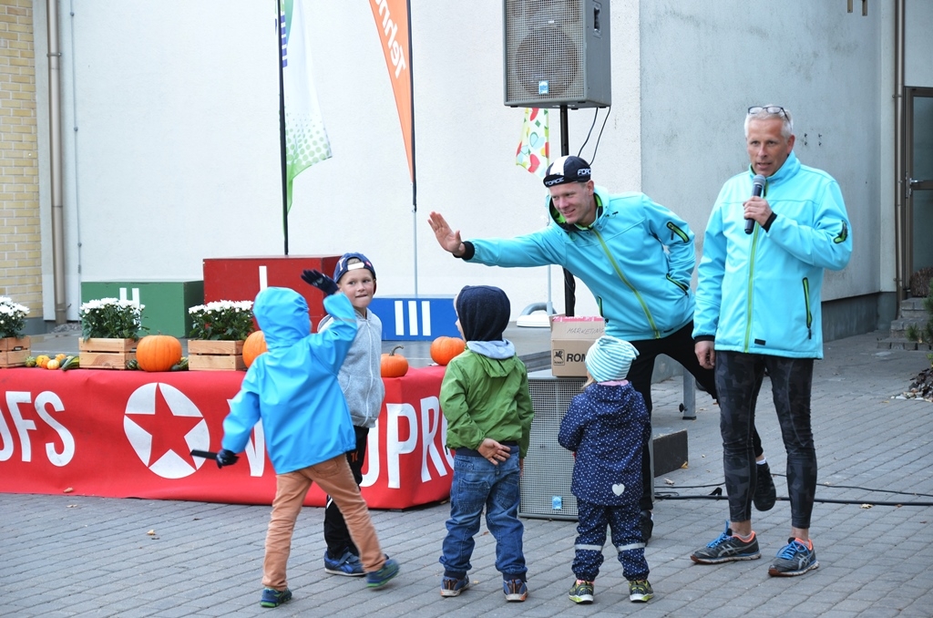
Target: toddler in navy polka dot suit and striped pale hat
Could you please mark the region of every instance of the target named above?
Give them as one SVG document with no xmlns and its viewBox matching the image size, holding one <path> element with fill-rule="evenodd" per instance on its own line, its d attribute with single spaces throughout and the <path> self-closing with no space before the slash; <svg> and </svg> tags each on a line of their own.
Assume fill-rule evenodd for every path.
<svg viewBox="0 0 933 618">
<path fill-rule="evenodd" d="M 629 581 L 629 598 L 653 596 L 638 526 L 642 444 L 651 435 L 651 422 L 645 400 L 625 379 L 636 356 L 634 345 L 608 335 L 592 344 L 586 355 L 590 379 L 571 401 L 558 434 L 561 446 L 576 455 L 570 487 L 578 512 L 576 581 L 569 597 L 577 603 L 592 603 L 606 527 Z"/>
</svg>

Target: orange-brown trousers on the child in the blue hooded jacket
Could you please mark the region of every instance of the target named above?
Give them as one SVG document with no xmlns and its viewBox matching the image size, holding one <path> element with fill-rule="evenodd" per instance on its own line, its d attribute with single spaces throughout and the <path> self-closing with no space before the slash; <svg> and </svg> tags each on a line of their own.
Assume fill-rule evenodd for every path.
<svg viewBox="0 0 933 618">
<path fill-rule="evenodd" d="M 276 475 L 275 499 L 266 533 L 266 557 L 262 563 L 262 585 L 285 590 L 285 565 L 291 554 L 292 532 L 312 483 L 330 496 L 343 513 L 350 536 L 359 549 L 359 558 L 367 572 L 383 568 L 385 555 L 376 538 L 376 530 L 369 519 L 369 509 L 359 494 L 359 487 L 347 464 L 340 455 L 301 470 Z"/>
</svg>

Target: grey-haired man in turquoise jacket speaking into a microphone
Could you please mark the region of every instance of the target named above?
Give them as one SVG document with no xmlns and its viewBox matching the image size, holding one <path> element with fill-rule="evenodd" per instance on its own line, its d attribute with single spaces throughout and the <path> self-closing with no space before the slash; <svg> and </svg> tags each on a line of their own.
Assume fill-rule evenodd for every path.
<svg viewBox="0 0 933 618">
<path fill-rule="evenodd" d="M 706 226 L 693 327 L 697 358 L 716 372 L 730 521 L 690 558 L 718 564 L 761 557 L 751 524 L 752 430 L 767 371 L 787 450 L 791 512 L 790 539 L 768 573 L 794 576 L 819 566 L 810 541 L 810 391 L 814 358 L 823 358 L 820 288 L 825 269 L 848 263 L 852 239 L 839 184 L 794 155 L 787 109 L 749 107 L 745 143 L 751 165 L 726 181 Z M 749 198 L 758 175 L 763 192 Z"/>
</svg>

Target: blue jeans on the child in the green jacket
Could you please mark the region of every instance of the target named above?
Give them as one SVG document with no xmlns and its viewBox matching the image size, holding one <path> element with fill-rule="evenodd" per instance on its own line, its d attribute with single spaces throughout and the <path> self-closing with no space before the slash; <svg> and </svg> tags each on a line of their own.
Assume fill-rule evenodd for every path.
<svg viewBox="0 0 933 618">
<path fill-rule="evenodd" d="M 522 554 L 522 522 L 519 521 L 519 447 L 494 465 L 475 451 L 457 449 L 453 456 L 451 518 L 442 546 L 440 564 L 444 575 L 462 579 L 472 568 L 470 556 L 480 531 L 480 516 L 486 509 L 486 527 L 495 539 L 495 569 L 505 580 L 524 580 L 527 568 Z"/>
</svg>

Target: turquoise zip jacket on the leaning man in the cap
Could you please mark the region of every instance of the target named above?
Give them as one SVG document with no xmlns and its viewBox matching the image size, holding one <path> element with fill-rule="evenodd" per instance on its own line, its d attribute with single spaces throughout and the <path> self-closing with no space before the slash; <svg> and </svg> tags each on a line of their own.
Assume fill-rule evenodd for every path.
<svg viewBox="0 0 933 618">
<path fill-rule="evenodd" d="M 626 341 L 658 339 L 683 328 L 693 315 L 690 277 L 696 262 L 687 223 L 643 193 L 610 195 L 596 187 L 595 198 L 591 226 L 562 222 L 549 195 L 547 228 L 515 238 L 471 239 L 475 253 L 469 261 L 563 266 L 590 288 L 606 333 Z"/>
</svg>

